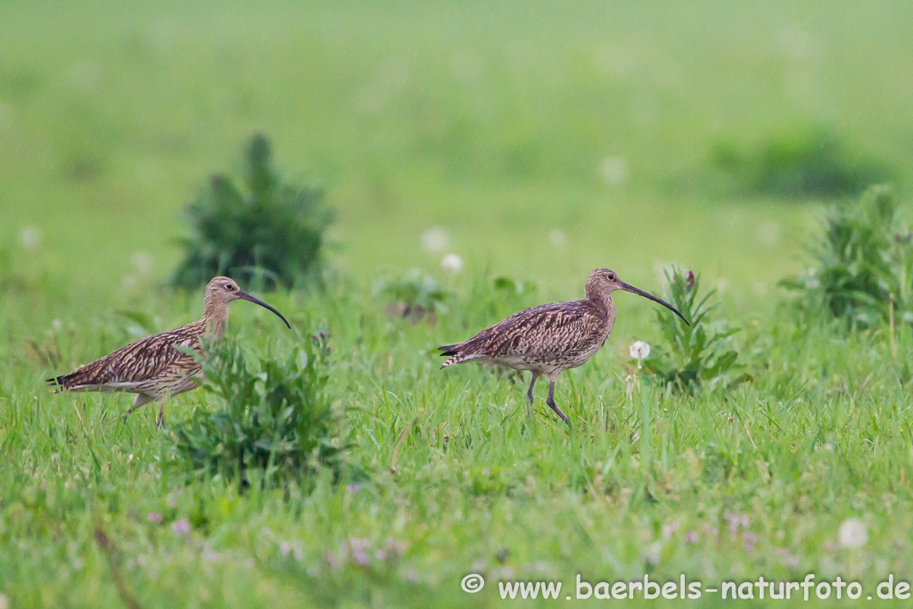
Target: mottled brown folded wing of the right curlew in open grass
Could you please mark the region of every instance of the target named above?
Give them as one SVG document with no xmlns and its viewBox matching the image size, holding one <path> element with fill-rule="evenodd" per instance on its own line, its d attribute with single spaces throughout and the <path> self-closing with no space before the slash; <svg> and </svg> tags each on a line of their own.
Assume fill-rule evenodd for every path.
<svg viewBox="0 0 913 609">
<path fill-rule="evenodd" d="M 522 310 L 480 331 L 460 345 L 459 352 L 549 358 L 583 350 L 603 324 L 591 309 L 589 302 L 575 300 Z"/>
</svg>

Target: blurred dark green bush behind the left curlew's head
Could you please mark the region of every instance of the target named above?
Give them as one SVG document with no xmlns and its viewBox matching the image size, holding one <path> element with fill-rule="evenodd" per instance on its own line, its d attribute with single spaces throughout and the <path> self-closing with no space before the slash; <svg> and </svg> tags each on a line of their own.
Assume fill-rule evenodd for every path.
<svg viewBox="0 0 913 609">
<path fill-rule="evenodd" d="M 247 147 L 247 193 L 217 173 L 187 215 L 193 233 L 184 240 L 184 261 L 172 281 L 190 289 L 216 275 L 261 289 L 318 277 L 332 220 L 320 188 L 282 183 L 268 139 L 259 134 Z"/>
</svg>

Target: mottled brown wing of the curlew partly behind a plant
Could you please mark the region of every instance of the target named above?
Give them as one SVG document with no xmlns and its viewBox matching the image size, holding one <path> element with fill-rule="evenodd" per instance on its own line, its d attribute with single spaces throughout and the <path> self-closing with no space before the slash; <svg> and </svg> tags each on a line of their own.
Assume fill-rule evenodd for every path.
<svg viewBox="0 0 913 609">
<path fill-rule="evenodd" d="M 116 352 L 82 366 L 76 372 L 48 379 L 52 386 L 70 390 L 83 386 L 112 383 L 142 383 L 175 364 L 190 364 L 193 358 L 175 349 L 182 346 L 199 351 L 199 339 L 205 327 L 200 322 L 177 330 L 147 336 Z"/>
</svg>

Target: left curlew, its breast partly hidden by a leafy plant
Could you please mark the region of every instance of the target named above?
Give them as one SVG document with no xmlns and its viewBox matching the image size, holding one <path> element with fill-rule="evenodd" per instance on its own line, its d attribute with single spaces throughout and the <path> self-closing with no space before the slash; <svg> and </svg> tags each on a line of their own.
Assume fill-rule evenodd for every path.
<svg viewBox="0 0 913 609">
<path fill-rule="evenodd" d="M 203 375 L 200 364 L 186 350 L 202 352 L 200 340 L 204 336 L 211 340 L 222 338 L 228 322 L 228 303 L 237 299 L 249 300 L 271 310 L 291 329 L 289 321 L 278 310 L 242 291 L 234 280 L 216 277 L 206 285 L 201 320 L 131 342 L 97 362 L 87 363 L 76 372 L 47 379 L 47 383 L 56 388 L 55 394 L 59 391 L 122 391 L 136 394 L 136 401 L 123 415 L 125 419 L 143 404 L 158 402 L 157 422 L 161 426 L 168 397 L 195 389 L 198 383 L 194 379 Z M 183 347 L 184 350 L 175 347 Z"/>
</svg>

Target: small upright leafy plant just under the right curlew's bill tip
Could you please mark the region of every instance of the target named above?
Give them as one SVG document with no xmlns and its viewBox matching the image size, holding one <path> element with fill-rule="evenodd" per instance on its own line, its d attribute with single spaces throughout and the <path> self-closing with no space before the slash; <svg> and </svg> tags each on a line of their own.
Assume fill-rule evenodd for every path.
<svg viewBox="0 0 913 609">
<path fill-rule="evenodd" d="M 667 310 L 657 310 L 656 319 L 664 344 L 650 350 L 643 360 L 645 372 L 662 385 L 677 390 L 702 387 L 734 387 L 751 377 L 740 364 L 739 353 L 730 337 L 738 329 L 730 329 L 725 321 L 711 322 L 710 313 L 719 302 L 710 303 L 716 293 L 711 289 L 698 298 L 700 277 L 691 271 L 674 270 L 666 273 L 668 287 L 665 299 L 691 322 L 688 326 Z"/>
</svg>

